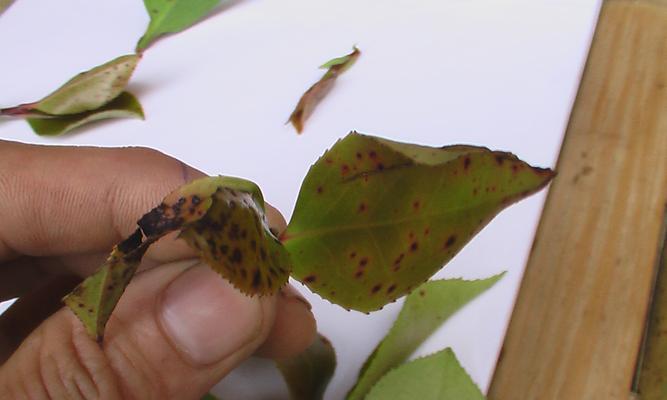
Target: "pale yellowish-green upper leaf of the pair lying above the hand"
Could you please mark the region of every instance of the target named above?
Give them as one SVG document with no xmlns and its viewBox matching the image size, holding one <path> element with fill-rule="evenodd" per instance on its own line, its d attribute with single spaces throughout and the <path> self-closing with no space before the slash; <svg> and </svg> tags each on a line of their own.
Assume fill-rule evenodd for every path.
<svg viewBox="0 0 667 400">
<path fill-rule="evenodd" d="M 98 109 L 125 90 L 139 59 L 140 56 L 129 54 L 82 72 L 36 102 L 33 108 L 50 115 L 79 114 Z"/>
</svg>

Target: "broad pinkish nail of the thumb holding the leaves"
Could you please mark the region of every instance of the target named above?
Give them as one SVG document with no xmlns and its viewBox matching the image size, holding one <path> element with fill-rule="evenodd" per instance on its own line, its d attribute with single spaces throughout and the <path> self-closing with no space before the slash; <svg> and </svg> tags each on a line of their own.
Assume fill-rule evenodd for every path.
<svg viewBox="0 0 667 400">
<path fill-rule="evenodd" d="M 205 265 L 169 284 L 159 314 L 172 344 L 191 362 L 219 362 L 259 335 L 262 307 Z"/>
</svg>

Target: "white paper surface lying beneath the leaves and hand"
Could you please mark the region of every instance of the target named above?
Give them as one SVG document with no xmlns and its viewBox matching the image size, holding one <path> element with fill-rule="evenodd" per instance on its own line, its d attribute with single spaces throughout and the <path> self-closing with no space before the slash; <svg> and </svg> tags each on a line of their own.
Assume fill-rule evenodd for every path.
<svg viewBox="0 0 667 400">
<path fill-rule="evenodd" d="M 553 166 L 598 7 L 598 0 L 235 1 L 146 52 L 130 84 L 145 122 L 47 139 L 23 122 L 2 121 L 0 137 L 154 147 L 209 174 L 254 180 L 288 219 L 307 168 L 351 129 L 437 146 L 485 145 Z M 132 52 L 147 22 L 139 0 L 17 1 L 0 17 L 0 106 L 37 100 L 75 73 Z M 353 44 L 361 58 L 297 136 L 283 123 L 321 75 L 317 66 Z M 544 192 L 503 212 L 437 275 L 509 272 L 418 353 L 453 347 L 482 389 L 543 199 Z M 302 292 L 338 353 L 327 399 L 341 399 L 401 302 L 366 316 Z M 265 364 L 251 361 L 219 393 L 285 398 Z"/>
</svg>

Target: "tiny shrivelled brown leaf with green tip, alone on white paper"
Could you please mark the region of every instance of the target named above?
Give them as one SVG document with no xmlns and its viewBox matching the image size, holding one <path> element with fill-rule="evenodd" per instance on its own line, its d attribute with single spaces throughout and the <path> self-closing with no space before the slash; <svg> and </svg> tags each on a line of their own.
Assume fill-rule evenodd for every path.
<svg viewBox="0 0 667 400">
<path fill-rule="evenodd" d="M 298 133 L 303 131 L 303 125 L 310 115 L 315 110 L 315 107 L 322 101 L 322 99 L 331 91 L 336 78 L 346 70 L 348 70 L 357 58 L 361 55 L 359 49 L 354 47 L 352 53 L 343 57 L 334 58 L 327 61 L 320 68 L 328 68 L 327 72 L 320 78 L 317 83 L 311 86 L 306 93 L 301 96 L 299 103 L 289 117 L 288 122 L 291 122 Z"/>
</svg>

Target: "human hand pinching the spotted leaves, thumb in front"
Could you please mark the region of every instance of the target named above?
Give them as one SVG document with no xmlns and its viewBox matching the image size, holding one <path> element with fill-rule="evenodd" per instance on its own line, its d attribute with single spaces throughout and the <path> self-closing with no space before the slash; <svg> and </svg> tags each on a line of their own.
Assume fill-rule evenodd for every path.
<svg viewBox="0 0 667 400">
<path fill-rule="evenodd" d="M 315 320 L 293 288 L 246 297 L 174 235 L 144 257 L 101 346 L 62 308 L 143 213 L 200 176 L 154 150 L 0 141 L 0 301 L 20 297 L 0 316 L 0 399 L 197 399 L 253 354 L 312 342 Z"/>
</svg>

